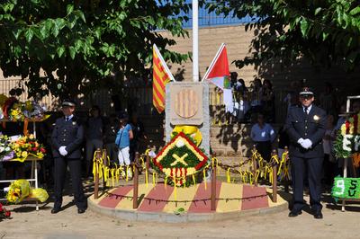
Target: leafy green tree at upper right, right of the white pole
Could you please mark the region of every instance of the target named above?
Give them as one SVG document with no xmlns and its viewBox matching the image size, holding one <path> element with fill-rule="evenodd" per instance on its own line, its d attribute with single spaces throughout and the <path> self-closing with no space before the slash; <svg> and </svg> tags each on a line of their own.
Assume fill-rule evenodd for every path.
<svg viewBox="0 0 360 239">
<path fill-rule="evenodd" d="M 222 0 L 206 7 L 210 12 L 252 17 L 245 26 L 246 31 L 258 30 L 252 55 L 235 61 L 238 67 L 279 58 L 289 64 L 300 57 L 347 70 L 360 63 L 358 0 Z"/>
</svg>

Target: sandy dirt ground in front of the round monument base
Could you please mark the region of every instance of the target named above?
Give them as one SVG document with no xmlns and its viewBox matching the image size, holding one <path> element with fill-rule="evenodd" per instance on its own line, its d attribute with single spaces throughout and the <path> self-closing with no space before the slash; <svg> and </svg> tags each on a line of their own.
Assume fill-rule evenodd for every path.
<svg viewBox="0 0 360 239">
<path fill-rule="evenodd" d="M 87 188 L 86 194 L 91 190 Z M 13 210 L 12 218 L 0 221 L 0 238 L 360 238 L 360 204 L 348 205 L 347 211 L 341 212 L 329 195 L 324 197 L 322 220 L 306 211 L 288 217 L 285 210 L 186 224 L 130 222 L 91 210 L 78 215 L 72 199 L 65 196 L 63 210 L 56 215 L 50 214 L 52 202 L 41 205 L 39 211 L 33 203 L 6 206 Z"/>
</svg>

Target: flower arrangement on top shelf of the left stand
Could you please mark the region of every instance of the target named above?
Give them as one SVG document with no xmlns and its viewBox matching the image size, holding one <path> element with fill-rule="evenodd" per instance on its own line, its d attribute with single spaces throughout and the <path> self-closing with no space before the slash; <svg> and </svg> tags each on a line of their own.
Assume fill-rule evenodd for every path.
<svg viewBox="0 0 360 239">
<path fill-rule="evenodd" d="M 0 94 L 0 107 L 0 119 L 20 121 L 45 118 L 46 107 L 38 102 L 19 102 L 15 97 L 7 98 L 4 94 Z"/>
</svg>

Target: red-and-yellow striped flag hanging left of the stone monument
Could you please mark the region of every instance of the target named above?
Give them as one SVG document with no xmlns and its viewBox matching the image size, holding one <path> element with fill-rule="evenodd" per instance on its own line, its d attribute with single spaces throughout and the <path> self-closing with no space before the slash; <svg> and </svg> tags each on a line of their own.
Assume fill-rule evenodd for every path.
<svg viewBox="0 0 360 239">
<path fill-rule="evenodd" d="M 152 78 L 152 103 L 157 108 L 157 111 L 161 113 L 165 110 L 165 85 L 175 80 L 155 44 L 153 47 Z"/>
</svg>

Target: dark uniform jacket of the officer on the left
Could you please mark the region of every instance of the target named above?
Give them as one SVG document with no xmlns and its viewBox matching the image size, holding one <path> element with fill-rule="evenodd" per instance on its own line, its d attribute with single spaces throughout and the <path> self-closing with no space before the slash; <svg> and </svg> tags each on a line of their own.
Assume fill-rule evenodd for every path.
<svg viewBox="0 0 360 239">
<path fill-rule="evenodd" d="M 58 148 L 66 146 L 67 158 L 80 158 L 83 140 L 84 128 L 76 116 L 68 121 L 64 117 L 58 118 L 51 134 L 52 154 L 60 157 Z"/>
</svg>

